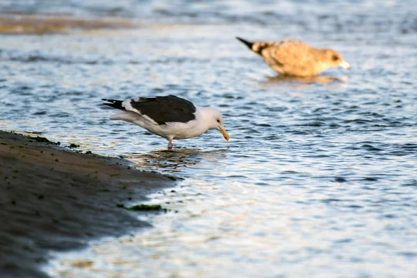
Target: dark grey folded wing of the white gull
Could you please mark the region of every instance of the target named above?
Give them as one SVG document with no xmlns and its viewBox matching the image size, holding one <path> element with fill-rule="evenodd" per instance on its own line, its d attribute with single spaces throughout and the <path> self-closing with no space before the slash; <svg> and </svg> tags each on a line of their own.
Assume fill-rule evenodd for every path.
<svg viewBox="0 0 417 278">
<path fill-rule="evenodd" d="M 193 103 L 181 97 L 138 97 L 123 101 L 126 111 L 132 111 L 154 120 L 157 124 L 167 122 L 189 122 L 195 120 Z"/>
</svg>

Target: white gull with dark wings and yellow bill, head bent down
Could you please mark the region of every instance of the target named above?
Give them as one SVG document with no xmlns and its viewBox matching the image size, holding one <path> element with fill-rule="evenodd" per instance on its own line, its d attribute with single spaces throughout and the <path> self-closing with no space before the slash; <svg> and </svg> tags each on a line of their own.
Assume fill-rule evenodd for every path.
<svg viewBox="0 0 417 278">
<path fill-rule="evenodd" d="M 186 99 L 168 95 L 164 97 L 137 97 L 136 99 L 101 99 L 104 104 L 120 109 L 121 112 L 110 120 L 122 120 L 138 124 L 147 131 L 168 140 L 168 149 L 172 149 L 172 140 L 188 139 L 202 135 L 209 129 L 218 129 L 224 139 L 229 134 L 224 129 L 222 114 L 213 107 L 199 107 Z"/>
</svg>

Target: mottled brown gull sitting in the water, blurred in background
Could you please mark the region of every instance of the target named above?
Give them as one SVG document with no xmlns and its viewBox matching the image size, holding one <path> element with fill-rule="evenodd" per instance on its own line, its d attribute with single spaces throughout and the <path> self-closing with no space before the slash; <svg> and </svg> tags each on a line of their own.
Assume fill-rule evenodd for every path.
<svg viewBox="0 0 417 278">
<path fill-rule="evenodd" d="M 316 49 L 300 40 L 249 42 L 236 37 L 265 60 L 272 70 L 288 76 L 316 76 L 329 67 L 350 69 L 341 54 L 333 49 Z"/>
</svg>

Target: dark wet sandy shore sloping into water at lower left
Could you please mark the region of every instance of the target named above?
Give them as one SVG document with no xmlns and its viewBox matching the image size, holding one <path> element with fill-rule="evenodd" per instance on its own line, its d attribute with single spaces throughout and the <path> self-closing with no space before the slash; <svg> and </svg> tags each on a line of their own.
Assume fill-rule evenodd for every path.
<svg viewBox="0 0 417 278">
<path fill-rule="evenodd" d="M 40 271 L 50 250 L 85 246 L 149 224 L 120 208 L 174 186 L 161 174 L 130 169 L 126 161 L 70 152 L 0 131 L 1 277 L 48 277 Z"/>
</svg>

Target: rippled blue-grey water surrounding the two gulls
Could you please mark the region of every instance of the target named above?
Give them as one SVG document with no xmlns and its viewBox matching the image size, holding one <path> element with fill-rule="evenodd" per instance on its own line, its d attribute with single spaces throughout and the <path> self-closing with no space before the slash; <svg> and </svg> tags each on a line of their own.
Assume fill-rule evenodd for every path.
<svg viewBox="0 0 417 278">
<path fill-rule="evenodd" d="M 172 211 L 147 217 L 152 229 L 60 254 L 50 273 L 416 275 L 413 1 L 33 3 L 26 9 L 35 13 L 117 15 L 147 24 L 3 35 L 1 129 L 42 132 L 183 178 L 173 191 L 154 195 Z M 331 46 L 352 70 L 328 70 L 322 75 L 342 79 L 328 84 L 280 80 L 236 35 Z M 113 111 L 100 101 L 168 94 L 218 106 L 231 140 L 210 131 L 167 152 L 164 139 L 108 121 Z M 80 268 L 76 261 L 91 263 Z"/>
</svg>

